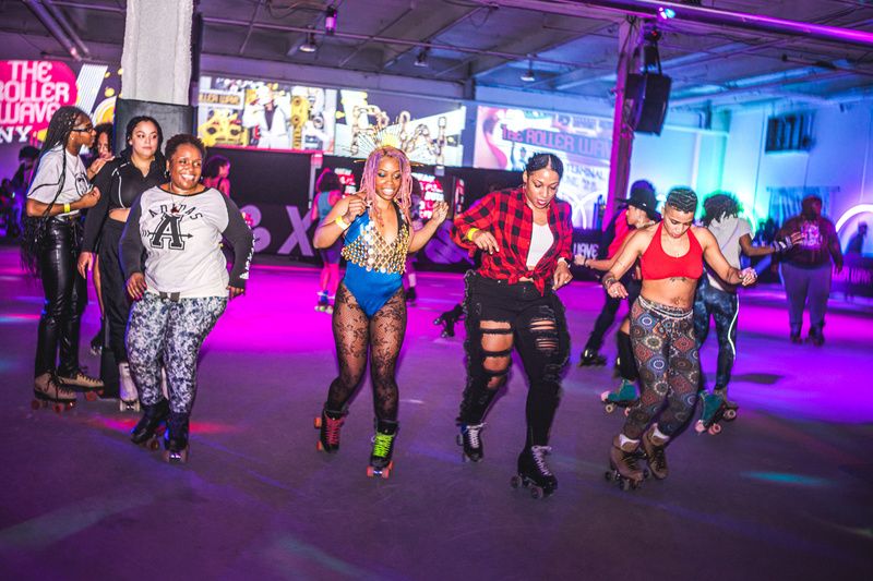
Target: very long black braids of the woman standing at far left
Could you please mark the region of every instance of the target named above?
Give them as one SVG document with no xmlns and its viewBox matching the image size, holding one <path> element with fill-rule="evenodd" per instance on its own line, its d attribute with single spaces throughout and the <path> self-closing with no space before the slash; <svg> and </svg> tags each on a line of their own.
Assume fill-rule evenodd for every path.
<svg viewBox="0 0 873 581">
<path fill-rule="evenodd" d="M 46 206 L 43 216 L 25 215 L 22 218 L 21 262 L 24 269 L 35 277 L 38 277 L 40 274 L 39 258 L 44 251 L 46 223 L 49 213 L 55 202 L 57 202 L 58 196 L 61 195 L 63 184 L 67 180 L 67 152 L 64 149 L 67 148 L 67 142 L 70 140 L 70 133 L 72 133 L 72 129 L 76 125 L 81 117 L 88 119 L 87 113 L 77 107 L 61 107 L 55 111 L 55 114 L 51 116 L 51 120 L 48 123 L 48 130 L 46 130 L 46 141 L 43 143 L 43 148 L 39 152 L 39 159 L 34 168 L 33 175 L 35 177 L 39 171 L 39 162 L 43 160 L 43 157 L 56 147 L 61 148 L 62 161 L 60 178 L 58 178 L 58 181 L 55 183 L 45 183 L 34 190 L 36 191 L 40 187 L 57 187 L 55 197 L 52 197 L 51 203 Z M 28 192 L 28 194 L 32 193 L 33 192 Z"/>
</svg>

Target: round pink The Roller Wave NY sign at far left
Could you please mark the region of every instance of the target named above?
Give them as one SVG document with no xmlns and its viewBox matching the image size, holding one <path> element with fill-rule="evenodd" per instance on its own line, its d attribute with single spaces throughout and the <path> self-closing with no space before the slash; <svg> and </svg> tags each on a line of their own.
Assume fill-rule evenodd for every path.
<svg viewBox="0 0 873 581">
<path fill-rule="evenodd" d="M 0 61 L 0 144 L 27 143 L 74 105 L 75 74 L 58 61 Z"/>
</svg>

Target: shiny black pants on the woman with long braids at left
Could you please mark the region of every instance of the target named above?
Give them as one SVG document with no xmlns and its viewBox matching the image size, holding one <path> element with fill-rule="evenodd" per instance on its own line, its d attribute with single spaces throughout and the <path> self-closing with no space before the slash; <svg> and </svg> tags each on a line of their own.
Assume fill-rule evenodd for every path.
<svg viewBox="0 0 873 581">
<path fill-rule="evenodd" d="M 45 247 L 39 256 L 45 303 L 39 317 L 34 377 L 55 371 L 74 375 L 79 366 L 79 328 L 87 304 L 85 279 L 76 270 L 77 225 L 49 218 Z M 60 366 L 56 367 L 60 350 Z"/>
</svg>

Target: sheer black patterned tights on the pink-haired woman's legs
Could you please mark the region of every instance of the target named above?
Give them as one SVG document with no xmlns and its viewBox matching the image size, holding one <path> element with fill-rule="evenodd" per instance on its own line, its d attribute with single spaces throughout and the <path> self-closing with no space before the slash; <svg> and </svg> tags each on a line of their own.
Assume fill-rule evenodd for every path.
<svg viewBox="0 0 873 581">
<path fill-rule="evenodd" d="M 340 283 L 333 315 L 339 376 L 331 383 L 325 409 L 345 412 L 348 401 L 363 377 L 367 352 L 370 352 L 370 377 L 373 383 L 373 408 L 380 421 L 397 421 L 397 355 L 406 334 L 406 301 L 403 287 L 368 318 L 355 295 Z"/>
</svg>

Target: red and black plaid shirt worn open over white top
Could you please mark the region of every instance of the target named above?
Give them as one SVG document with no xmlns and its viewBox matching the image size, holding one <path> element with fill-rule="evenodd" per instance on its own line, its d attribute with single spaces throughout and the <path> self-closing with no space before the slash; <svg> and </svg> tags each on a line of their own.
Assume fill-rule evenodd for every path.
<svg viewBox="0 0 873 581">
<path fill-rule="evenodd" d="M 518 282 L 521 278 L 529 278 L 540 293 L 545 294 L 546 286 L 551 282 L 558 267 L 558 259 L 565 258 L 567 263 L 573 259 L 571 214 L 572 209 L 566 202 L 554 199 L 549 205 L 549 229 L 554 235 L 554 242 L 533 270 L 527 268 L 527 253 L 534 233 L 534 210 L 528 207 L 521 187 L 492 192 L 456 217 L 452 240 L 469 250 L 473 256 L 478 249 L 467 239 L 470 229 L 491 232 L 498 241 L 500 252 L 482 253 L 479 274 L 487 278 L 507 280 L 511 285 Z"/>
</svg>

